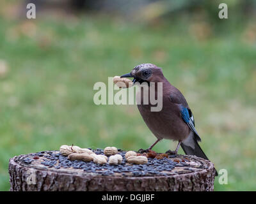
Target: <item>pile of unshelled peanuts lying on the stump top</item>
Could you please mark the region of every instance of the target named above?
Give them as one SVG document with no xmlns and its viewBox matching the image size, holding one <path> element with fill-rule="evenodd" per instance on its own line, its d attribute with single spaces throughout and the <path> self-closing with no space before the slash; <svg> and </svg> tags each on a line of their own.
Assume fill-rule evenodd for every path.
<svg viewBox="0 0 256 204">
<path fill-rule="evenodd" d="M 106 164 L 109 163 L 110 165 L 118 165 L 122 163 L 123 157 L 118 154 L 118 150 L 116 147 L 106 147 L 104 149 L 104 155 L 102 154 L 95 154 L 90 149 L 82 149 L 78 146 L 68 146 L 68 145 L 61 145 L 60 153 L 63 156 L 68 156 L 68 159 L 74 160 L 81 160 L 81 161 L 93 161 L 97 164 Z M 109 156 L 109 157 L 108 157 Z M 163 157 L 168 157 L 168 154 L 157 154 L 153 150 L 149 150 L 148 153 L 136 153 L 134 151 L 128 151 L 125 154 L 125 159 L 127 163 L 131 164 L 145 164 L 148 162 L 148 157 L 156 158 L 156 159 L 163 159 Z"/>
</svg>

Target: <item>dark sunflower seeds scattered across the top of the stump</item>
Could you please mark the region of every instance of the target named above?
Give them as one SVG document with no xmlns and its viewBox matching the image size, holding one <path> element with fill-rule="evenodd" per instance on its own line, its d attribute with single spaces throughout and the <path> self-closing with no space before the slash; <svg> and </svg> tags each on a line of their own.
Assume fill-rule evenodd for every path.
<svg viewBox="0 0 256 204">
<path fill-rule="evenodd" d="M 92 150 L 92 149 L 91 149 Z M 93 150 L 95 154 L 104 154 L 103 149 L 95 149 Z M 67 156 L 61 155 L 56 151 L 42 151 L 36 152 L 33 154 L 29 154 L 28 157 L 22 159 L 22 161 L 26 164 L 31 164 L 34 159 L 39 159 L 42 157 L 41 164 L 47 166 L 49 168 L 74 168 L 81 169 L 86 172 L 97 173 L 99 175 L 110 176 L 113 173 L 118 173 L 122 176 L 133 176 L 133 177 L 141 177 L 141 176 L 152 176 L 152 175 L 166 175 L 162 171 L 172 171 L 175 166 L 182 166 L 188 168 L 189 164 L 185 163 L 185 161 L 190 161 L 187 157 L 184 159 L 168 159 L 168 154 L 157 154 L 153 150 L 150 150 L 148 153 L 138 154 L 140 156 L 148 156 L 148 163 L 146 164 L 127 164 L 125 163 L 125 151 L 118 149 L 118 154 L 123 157 L 122 163 L 113 166 L 108 163 L 104 165 L 95 164 L 93 161 L 84 162 L 84 161 L 70 161 L 67 159 Z M 167 155 L 167 156 L 166 156 Z M 173 156 L 169 156 L 173 157 Z M 174 156 L 175 157 L 175 156 Z M 204 168 L 204 166 L 202 166 Z M 193 171 L 193 170 L 191 170 Z"/>
</svg>

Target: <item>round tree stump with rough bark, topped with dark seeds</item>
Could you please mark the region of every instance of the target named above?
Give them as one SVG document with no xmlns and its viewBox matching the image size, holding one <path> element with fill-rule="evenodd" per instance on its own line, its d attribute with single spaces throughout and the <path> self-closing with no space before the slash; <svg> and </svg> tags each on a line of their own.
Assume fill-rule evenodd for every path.
<svg viewBox="0 0 256 204">
<path fill-rule="evenodd" d="M 211 161 L 186 155 L 168 159 L 173 162 L 171 169 L 164 167 L 166 158 L 149 159 L 152 164 L 148 166 L 104 164 L 93 171 L 86 168 L 94 165 L 92 162 L 66 161 L 58 151 L 24 154 L 10 159 L 10 191 L 213 191 L 215 173 Z M 110 170 L 104 170 L 104 166 Z"/>
</svg>

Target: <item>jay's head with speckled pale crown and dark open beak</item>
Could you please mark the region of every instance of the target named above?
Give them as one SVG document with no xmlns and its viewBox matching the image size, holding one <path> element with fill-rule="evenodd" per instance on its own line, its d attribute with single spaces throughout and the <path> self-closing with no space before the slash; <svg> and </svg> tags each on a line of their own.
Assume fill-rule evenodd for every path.
<svg viewBox="0 0 256 204">
<path fill-rule="evenodd" d="M 160 82 L 163 76 L 162 69 L 155 64 L 145 63 L 140 64 L 132 69 L 130 73 L 122 75 L 122 77 L 133 77 L 133 83 L 139 82 Z"/>
</svg>

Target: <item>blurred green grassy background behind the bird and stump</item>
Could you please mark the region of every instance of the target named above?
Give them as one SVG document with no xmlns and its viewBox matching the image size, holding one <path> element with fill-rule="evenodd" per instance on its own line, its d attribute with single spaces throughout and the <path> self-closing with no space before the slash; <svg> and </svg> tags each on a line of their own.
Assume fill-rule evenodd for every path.
<svg viewBox="0 0 256 204">
<path fill-rule="evenodd" d="M 26 4 L 36 4 L 36 19 Z M 228 19 L 218 17 L 220 3 Z M 61 145 L 146 149 L 135 105 L 95 105 L 93 85 L 143 62 L 186 97 L 200 143 L 228 184 L 256 189 L 256 1 L 0 2 L 0 190 L 8 160 Z M 158 152 L 174 149 L 164 140 Z M 180 154 L 184 154 L 182 149 Z"/>
</svg>

